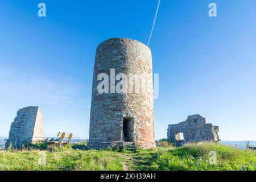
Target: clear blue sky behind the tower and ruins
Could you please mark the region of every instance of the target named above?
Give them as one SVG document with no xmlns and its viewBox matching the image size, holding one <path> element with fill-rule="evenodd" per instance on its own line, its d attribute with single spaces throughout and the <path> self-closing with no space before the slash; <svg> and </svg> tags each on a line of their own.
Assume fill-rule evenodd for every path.
<svg viewBox="0 0 256 182">
<path fill-rule="evenodd" d="M 47 6 L 39 18 L 38 3 Z M 210 2 L 217 17 L 208 16 Z M 88 138 L 96 47 L 113 37 L 147 43 L 158 1 L 0 2 L 0 136 L 16 111 L 39 106 L 47 137 Z M 156 139 L 201 114 L 223 140 L 256 140 L 256 1 L 162 0 L 150 48 L 159 73 Z"/>
</svg>

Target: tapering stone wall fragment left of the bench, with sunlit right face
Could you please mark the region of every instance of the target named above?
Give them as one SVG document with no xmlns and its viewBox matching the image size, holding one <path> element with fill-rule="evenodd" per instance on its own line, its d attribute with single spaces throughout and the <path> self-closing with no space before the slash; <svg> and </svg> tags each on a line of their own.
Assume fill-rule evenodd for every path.
<svg viewBox="0 0 256 182">
<path fill-rule="evenodd" d="M 14 122 L 11 123 L 9 139 L 5 143 L 8 148 L 10 144 L 20 148 L 23 144 L 32 143 L 32 138 L 44 137 L 43 115 L 38 107 L 24 107 L 18 110 Z"/>
</svg>

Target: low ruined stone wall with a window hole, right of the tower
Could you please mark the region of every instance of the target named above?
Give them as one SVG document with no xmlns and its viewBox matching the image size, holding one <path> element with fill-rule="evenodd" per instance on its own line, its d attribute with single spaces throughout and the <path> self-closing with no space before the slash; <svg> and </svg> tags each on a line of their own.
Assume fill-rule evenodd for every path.
<svg viewBox="0 0 256 182">
<path fill-rule="evenodd" d="M 183 143 L 214 141 L 218 142 L 218 126 L 206 123 L 205 118 L 199 114 L 189 115 L 186 121 L 169 125 L 167 137 L 177 146 Z M 183 134 L 184 139 L 180 135 Z"/>
</svg>

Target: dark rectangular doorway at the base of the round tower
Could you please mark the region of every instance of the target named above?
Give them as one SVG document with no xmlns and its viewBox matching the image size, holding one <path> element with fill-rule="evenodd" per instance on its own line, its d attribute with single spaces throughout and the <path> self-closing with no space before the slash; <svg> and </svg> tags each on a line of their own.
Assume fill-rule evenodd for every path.
<svg viewBox="0 0 256 182">
<path fill-rule="evenodd" d="M 133 142 L 133 119 L 123 118 L 123 140 Z"/>
</svg>

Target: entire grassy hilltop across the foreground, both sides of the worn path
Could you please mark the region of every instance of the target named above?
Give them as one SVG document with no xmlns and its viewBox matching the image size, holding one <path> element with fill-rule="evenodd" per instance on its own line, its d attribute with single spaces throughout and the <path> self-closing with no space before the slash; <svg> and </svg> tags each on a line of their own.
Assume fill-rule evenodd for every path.
<svg viewBox="0 0 256 182">
<path fill-rule="evenodd" d="M 210 151 L 216 152 L 216 164 L 209 163 Z M 215 143 L 137 151 L 0 151 L 0 170 L 256 170 L 256 153 Z"/>
</svg>

